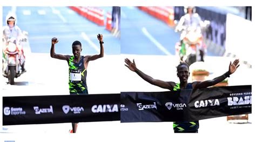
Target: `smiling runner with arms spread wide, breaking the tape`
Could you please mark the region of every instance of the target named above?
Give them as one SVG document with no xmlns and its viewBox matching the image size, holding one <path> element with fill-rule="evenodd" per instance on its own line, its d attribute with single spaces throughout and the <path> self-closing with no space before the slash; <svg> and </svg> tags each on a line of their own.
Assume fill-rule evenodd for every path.
<svg viewBox="0 0 256 142">
<path fill-rule="evenodd" d="M 146 75 L 144 72 L 140 71 L 134 62 L 131 62 L 130 59 L 125 59 L 125 66 L 128 67 L 131 71 L 136 72 L 141 78 L 143 78 L 146 82 L 149 82 L 152 85 L 159 86 L 163 89 L 169 89 L 173 91 L 181 90 L 181 89 L 202 89 L 209 86 L 213 86 L 221 81 L 223 81 L 225 78 L 230 77 L 232 73 L 237 70 L 239 67 L 239 60 L 235 59 L 234 62 L 231 64 L 228 68 L 228 71 L 224 73 L 223 75 L 216 77 L 212 80 L 206 80 L 204 82 L 193 82 L 193 83 L 187 83 L 187 79 L 190 76 L 189 72 L 189 66 L 184 63 L 180 62 L 180 64 L 177 66 L 177 76 L 180 80 L 180 83 L 174 83 L 174 82 L 165 82 L 163 80 L 154 79 L 148 75 Z M 173 122 L 173 130 L 174 133 L 198 133 L 199 129 L 199 121 L 176 121 Z"/>
</svg>

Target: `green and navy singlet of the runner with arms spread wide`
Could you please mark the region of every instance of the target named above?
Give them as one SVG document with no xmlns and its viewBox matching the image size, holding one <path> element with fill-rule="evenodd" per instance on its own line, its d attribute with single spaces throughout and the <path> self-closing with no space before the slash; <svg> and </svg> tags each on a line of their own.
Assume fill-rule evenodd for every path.
<svg viewBox="0 0 256 142">
<path fill-rule="evenodd" d="M 173 87 L 173 91 L 180 90 L 180 84 L 177 83 Z M 185 89 L 192 89 L 192 83 L 188 83 Z M 173 122 L 174 133 L 193 133 L 197 132 L 199 129 L 199 121 L 176 121 Z"/>
</svg>

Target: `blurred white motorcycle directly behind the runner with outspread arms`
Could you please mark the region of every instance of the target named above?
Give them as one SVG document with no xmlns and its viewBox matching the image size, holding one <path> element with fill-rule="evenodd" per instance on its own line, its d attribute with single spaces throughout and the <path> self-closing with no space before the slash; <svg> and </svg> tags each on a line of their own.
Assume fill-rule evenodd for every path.
<svg viewBox="0 0 256 142">
<path fill-rule="evenodd" d="M 177 31 L 181 31 L 181 41 L 176 43 L 176 54 L 181 62 L 188 65 L 194 62 L 204 61 L 205 45 L 203 44 L 202 31 L 210 25 L 209 21 L 204 21 L 202 27 L 183 26 Z"/>
</svg>

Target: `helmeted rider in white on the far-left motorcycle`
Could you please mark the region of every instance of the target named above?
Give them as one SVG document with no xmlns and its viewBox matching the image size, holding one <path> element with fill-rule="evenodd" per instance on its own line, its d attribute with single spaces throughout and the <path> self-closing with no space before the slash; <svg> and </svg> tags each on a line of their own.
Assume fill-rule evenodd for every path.
<svg viewBox="0 0 256 142">
<path fill-rule="evenodd" d="M 22 67 L 22 73 L 26 72 L 25 69 L 25 56 L 23 48 L 20 44 L 20 41 L 23 39 L 23 33 L 21 29 L 17 26 L 17 20 L 15 14 L 9 13 L 6 16 L 6 26 L 3 27 L 3 40 L 7 45 L 9 42 L 16 44 L 19 50 L 19 61 Z M 5 49 L 3 49 L 5 50 Z"/>
</svg>

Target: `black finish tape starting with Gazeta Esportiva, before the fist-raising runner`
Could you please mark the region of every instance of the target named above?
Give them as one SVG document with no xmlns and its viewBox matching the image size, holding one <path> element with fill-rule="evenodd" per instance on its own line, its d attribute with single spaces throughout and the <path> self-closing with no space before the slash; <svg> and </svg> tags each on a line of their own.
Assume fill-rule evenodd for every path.
<svg viewBox="0 0 256 142">
<path fill-rule="evenodd" d="M 3 125 L 120 120 L 120 94 L 3 97 Z"/>
</svg>

